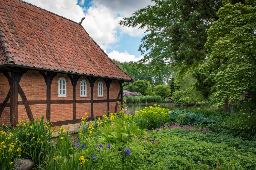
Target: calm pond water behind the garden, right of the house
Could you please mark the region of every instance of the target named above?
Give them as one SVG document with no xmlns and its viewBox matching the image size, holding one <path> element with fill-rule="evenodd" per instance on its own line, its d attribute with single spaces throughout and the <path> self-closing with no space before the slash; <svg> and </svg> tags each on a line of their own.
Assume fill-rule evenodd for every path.
<svg viewBox="0 0 256 170">
<path fill-rule="evenodd" d="M 127 105 L 127 110 L 126 110 L 126 114 L 134 114 L 135 111 L 139 111 L 144 109 L 145 107 L 149 107 L 149 106 L 153 106 L 155 103 L 137 103 L 137 104 L 126 104 Z M 161 108 L 166 108 L 169 110 L 190 110 L 193 108 L 197 108 L 197 107 L 193 107 L 193 106 L 174 106 L 173 103 L 156 103 L 157 105 L 161 105 Z M 204 109 L 216 109 L 216 107 L 204 107 Z"/>
</svg>

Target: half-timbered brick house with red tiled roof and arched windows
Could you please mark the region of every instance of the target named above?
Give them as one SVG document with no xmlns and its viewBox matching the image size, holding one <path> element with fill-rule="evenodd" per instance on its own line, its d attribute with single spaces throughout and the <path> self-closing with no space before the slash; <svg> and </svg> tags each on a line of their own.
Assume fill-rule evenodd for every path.
<svg viewBox="0 0 256 170">
<path fill-rule="evenodd" d="M 81 20 L 82 22 L 82 20 Z M 0 1 L 0 124 L 44 117 L 78 123 L 117 112 L 134 81 L 80 23 L 19 0 Z"/>
</svg>

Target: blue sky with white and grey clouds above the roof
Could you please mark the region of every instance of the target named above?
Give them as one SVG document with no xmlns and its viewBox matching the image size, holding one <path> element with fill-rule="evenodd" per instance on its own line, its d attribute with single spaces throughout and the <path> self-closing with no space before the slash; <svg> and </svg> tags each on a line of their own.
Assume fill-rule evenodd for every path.
<svg viewBox="0 0 256 170">
<path fill-rule="evenodd" d="M 89 35 L 112 59 L 138 61 L 138 46 L 145 35 L 142 29 L 118 25 L 138 9 L 153 5 L 151 0 L 25 0 L 55 14 L 80 22 Z"/>
</svg>

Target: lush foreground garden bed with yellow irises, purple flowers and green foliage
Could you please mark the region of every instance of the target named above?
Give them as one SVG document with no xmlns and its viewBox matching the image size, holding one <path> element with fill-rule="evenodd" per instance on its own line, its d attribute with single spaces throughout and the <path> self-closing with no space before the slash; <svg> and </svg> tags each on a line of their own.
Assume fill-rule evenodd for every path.
<svg viewBox="0 0 256 170">
<path fill-rule="evenodd" d="M 120 114 L 88 123 L 85 114 L 78 134 L 69 135 L 60 127 L 56 138 L 54 127 L 43 117 L 21 121 L 18 127 L 1 127 L 1 167 L 15 169 L 17 158 L 30 158 L 35 169 L 256 168 L 252 136 L 247 140 L 209 126 L 216 124 L 208 121 L 212 116 L 222 122 L 228 114 L 221 119 L 216 111 L 170 111 L 159 105 L 135 115 L 124 111 L 125 107 Z"/>
</svg>

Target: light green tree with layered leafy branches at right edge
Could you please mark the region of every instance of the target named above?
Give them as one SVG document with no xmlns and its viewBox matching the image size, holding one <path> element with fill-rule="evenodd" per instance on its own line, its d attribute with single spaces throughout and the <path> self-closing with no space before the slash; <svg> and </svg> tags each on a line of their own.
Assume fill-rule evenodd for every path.
<svg viewBox="0 0 256 170">
<path fill-rule="evenodd" d="M 256 103 L 256 8 L 226 2 L 208 31 L 208 60 L 199 68 L 214 81 L 214 97 L 224 112 L 229 98 L 240 100 L 245 92 Z"/>
</svg>

